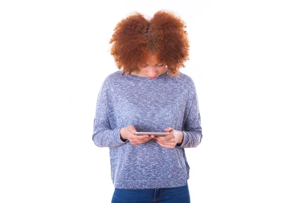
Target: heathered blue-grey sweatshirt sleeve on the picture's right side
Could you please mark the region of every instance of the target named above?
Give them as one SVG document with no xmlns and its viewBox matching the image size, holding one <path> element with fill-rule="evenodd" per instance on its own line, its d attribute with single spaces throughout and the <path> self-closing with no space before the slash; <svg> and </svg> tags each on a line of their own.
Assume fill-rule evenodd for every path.
<svg viewBox="0 0 305 203">
<path fill-rule="evenodd" d="M 176 145 L 181 148 L 197 147 L 201 143 L 202 128 L 199 112 L 198 97 L 196 90 L 194 92 L 191 108 L 184 124 L 183 140 L 181 145 Z"/>
</svg>

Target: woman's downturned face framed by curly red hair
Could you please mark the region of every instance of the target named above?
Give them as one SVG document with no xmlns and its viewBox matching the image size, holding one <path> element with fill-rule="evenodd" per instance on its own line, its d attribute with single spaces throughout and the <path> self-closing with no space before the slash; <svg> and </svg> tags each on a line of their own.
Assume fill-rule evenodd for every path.
<svg viewBox="0 0 305 203">
<path fill-rule="evenodd" d="M 156 79 L 167 72 L 165 61 L 159 61 L 154 54 L 149 54 L 146 62 L 139 64 L 138 67 L 139 70 L 135 74 L 149 79 Z"/>
</svg>

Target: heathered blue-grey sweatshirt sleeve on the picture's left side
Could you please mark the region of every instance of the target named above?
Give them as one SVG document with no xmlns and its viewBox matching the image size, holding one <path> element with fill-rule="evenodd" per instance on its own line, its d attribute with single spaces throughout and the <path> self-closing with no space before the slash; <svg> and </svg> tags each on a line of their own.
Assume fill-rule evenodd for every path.
<svg viewBox="0 0 305 203">
<path fill-rule="evenodd" d="M 128 142 L 120 139 L 120 129 L 111 129 L 108 118 L 107 78 L 103 82 L 97 99 L 92 140 L 98 147 L 117 147 Z"/>
</svg>

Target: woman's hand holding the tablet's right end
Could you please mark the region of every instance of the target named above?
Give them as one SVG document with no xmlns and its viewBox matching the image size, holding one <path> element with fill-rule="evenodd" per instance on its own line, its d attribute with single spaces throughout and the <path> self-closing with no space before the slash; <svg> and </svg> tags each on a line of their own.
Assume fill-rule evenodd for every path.
<svg viewBox="0 0 305 203">
<path fill-rule="evenodd" d="M 173 149 L 176 144 L 181 144 L 183 140 L 183 132 L 175 130 L 171 127 L 164 129 L 169 132 L 167 136 L 156 136 L 154 139 L 157 140 L 157 143 L 164 148 Z"/>
</svg>

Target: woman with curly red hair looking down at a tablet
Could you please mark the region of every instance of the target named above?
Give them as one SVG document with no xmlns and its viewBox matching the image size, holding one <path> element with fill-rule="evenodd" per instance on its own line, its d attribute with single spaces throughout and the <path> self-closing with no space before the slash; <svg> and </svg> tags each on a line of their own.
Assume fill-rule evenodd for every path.
<svg viewBox="0 0 305 203">
<path fill-rule="evenodd" d="M 150 20 L 135 12 L 114 29 L 111 55 L 123 70 L 102 84 L 93 133 L 95 145 L 109 147 L 112 202 L 190 202 L 184 148 L 202 133 L 195 84 L 178 71 L 189 60 L 185 27 L 159 11 Z"/>
</svg>

